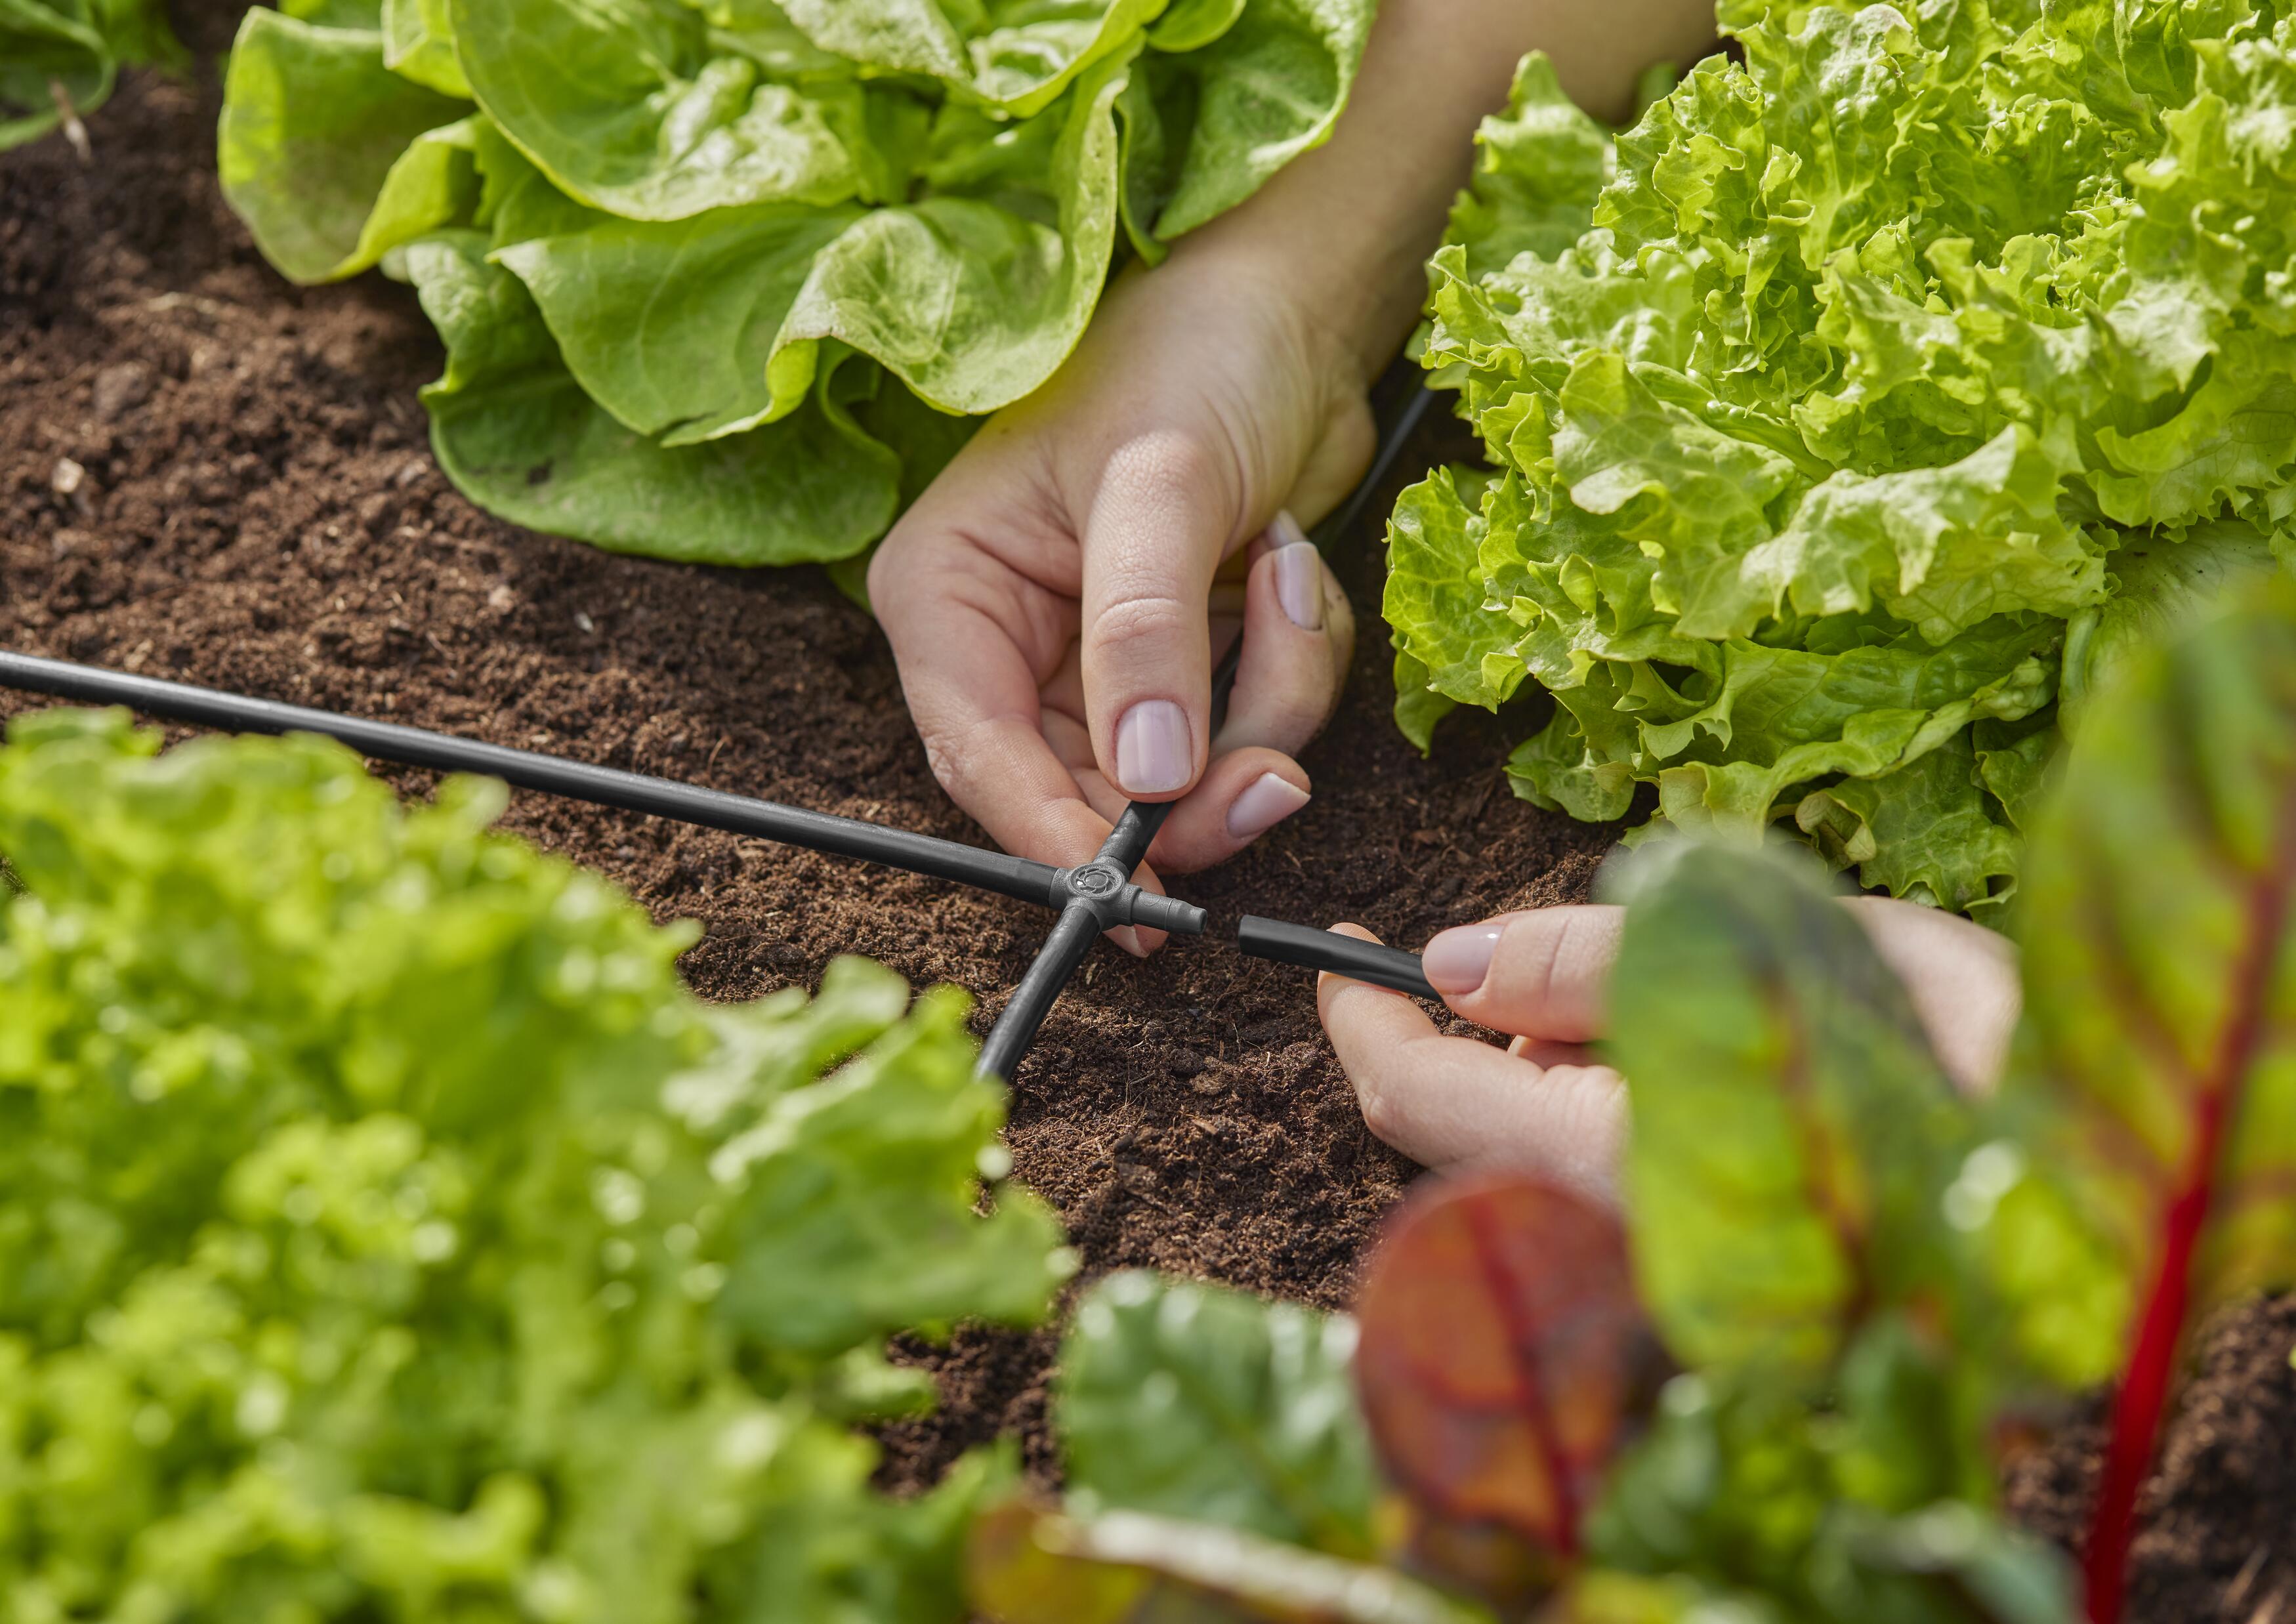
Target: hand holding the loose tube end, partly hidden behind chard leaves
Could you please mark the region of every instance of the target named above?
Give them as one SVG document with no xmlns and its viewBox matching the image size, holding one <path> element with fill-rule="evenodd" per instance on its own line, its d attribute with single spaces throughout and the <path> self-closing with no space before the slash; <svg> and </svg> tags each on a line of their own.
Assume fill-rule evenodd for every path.
<svg viewBox="0 0 2296 1624">
<path fill-rule="evenodd" d="M 1906 983 L 1947 1075 L 1963 1091 L 1991 1089 L 2023 1002 L 2016 949 L 1917 903 L 1855 896 L 1841 907 Z M 1605 1034 L 1623 923 L 1619 907 L 1543 907 L 1428 942 L 1428 981 L 1467 1020 L 1511 1034 L 1504 1050 L 1440 1034 L 1401 992 L 1320 976 L 1316 1008 L 1371 1132 L 1424 1167 L 1525 1169 L 1616 1199 L 1628 1082 L 1589 1045 Z"/>
</svg>

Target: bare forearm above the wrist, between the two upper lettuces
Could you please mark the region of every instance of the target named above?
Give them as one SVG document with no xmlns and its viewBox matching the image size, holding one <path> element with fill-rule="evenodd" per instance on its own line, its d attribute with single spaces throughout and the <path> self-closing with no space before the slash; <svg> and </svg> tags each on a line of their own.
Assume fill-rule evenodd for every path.
<svg viewBox="0 0 2296 1624">
<path fill-rule="evenodd" d="M 1382 0 L 1332 140 L 1180 253 L 1286 278 L 1368 372 L 1417 319 L 1474 129 L 1522 53 L 1545 51 L 1582 108 L 1621 119 L 1646 67 L 1711 39 L 1711 0 Z"/>
</svg>

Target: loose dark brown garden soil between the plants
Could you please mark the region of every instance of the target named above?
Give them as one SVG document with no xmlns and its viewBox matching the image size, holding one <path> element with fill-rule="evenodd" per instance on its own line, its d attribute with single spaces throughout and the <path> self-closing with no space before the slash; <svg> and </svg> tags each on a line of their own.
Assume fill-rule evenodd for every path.
<svg viewBox="0 0 2296 1624">
<path fill-rule="evenodd" d="M 439 345 L 413 296 L 294 289 L 214 177 L 227 0 L 179 11 L 191 83 L 131 74 L 83 165 L 48 138 L 0 158 L 0 643 L 445 728 L 978 841 L 925 767 L 893 662 L 815 570 L 719 572 L 533 535 L 432 464 L 416 388 Z M 1463 453 L 1449 425 L 1410 466 Z M 1417 946 L 1502 907 L 1582 900 L 1612 832 L 1513 799 L 1506 737 L 1446 724 L 1421 760 L 1387 719 L 1378 515 L 1339 558 L 1366 636 L 1306 753 L 1316 802 L 1238 861 L 1176 880 L 1215 935 L 1242 912 L 1357 919 Z M 0 696 L 0 714 L 28 707 Z M 393 774 L 406 790 L 422 774 Z M 994 1015 L 1049 917 L 928 880 L 519 795 L 510 827 L 606 871 L 707 937 L 712 999 L 813 983 L 868 953 Z M 1102 949 L 1013 1096 L 1019 1178 L 1097 1275 L 1201 1275 L 1339 1307 L 1412 1167 L 1364 1130 L 1309 979 L 1180 942 Z M 2296 1624 L 2296 1305 L 2225 1316 L 2154 1484 L 2140 1617 Z M 884 1431 L 891 1488 L 1045 1426 L 1052 1337 L 909 1348 L 937 1415 Z M 2094 1426 L 2023 1463 L 2011 1500 L 2069 1534 Z"/>
</svg>

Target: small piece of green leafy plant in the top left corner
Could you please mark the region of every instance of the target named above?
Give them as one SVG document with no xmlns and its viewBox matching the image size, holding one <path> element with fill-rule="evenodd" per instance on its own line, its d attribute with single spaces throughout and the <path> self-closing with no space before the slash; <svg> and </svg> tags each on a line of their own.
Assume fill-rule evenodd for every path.
<svg viewBox="0 0 2296 1624">
<path fill-rule="evenodd" d="M 0 152 L 76 129 L 122 67 L 184 62 L 156 0 L 0 0 Z"/>
</svg>

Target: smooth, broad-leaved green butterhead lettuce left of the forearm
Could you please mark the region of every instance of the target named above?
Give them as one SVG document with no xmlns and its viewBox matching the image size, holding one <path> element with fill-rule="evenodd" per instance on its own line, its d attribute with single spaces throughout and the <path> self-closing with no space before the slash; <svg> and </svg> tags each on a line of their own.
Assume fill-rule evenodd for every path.
<svg viewBox="0 0 2296 1624">
<path fill-rule="evenodd" d="M 491 512 L 843 560 L 1042 384 L 1109 269 L 1339 119 L 1373 0 L 289 0 L 223 191 L 298 283 L 409 278 Z"/>
</svg>

